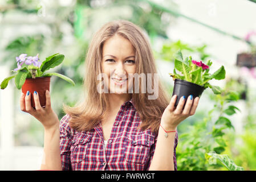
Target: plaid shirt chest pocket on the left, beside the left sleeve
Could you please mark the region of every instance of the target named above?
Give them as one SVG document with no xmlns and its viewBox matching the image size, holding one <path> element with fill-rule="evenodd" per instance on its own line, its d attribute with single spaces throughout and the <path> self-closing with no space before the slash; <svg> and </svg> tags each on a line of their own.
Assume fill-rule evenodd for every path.
<svg viewBox="0 0 256 182">
<path fill-rule="evenodd" d="M 86 157 L 87 149 L 90 145 L 92 135 L 86 133 L 78 133 L 71 141 L 70 147 L 70 162 L 80 163 Z"/>
</svg>

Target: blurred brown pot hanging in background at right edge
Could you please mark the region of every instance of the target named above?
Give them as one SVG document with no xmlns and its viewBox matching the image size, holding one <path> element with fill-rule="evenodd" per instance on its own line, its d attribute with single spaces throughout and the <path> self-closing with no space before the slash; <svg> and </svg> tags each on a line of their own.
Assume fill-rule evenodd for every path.
<svg viewBox="0 0 256 182">
<path fill-rule="evenodd" d="M 247 68 L 256 67 L 256 55 L 250 53 L 239 53 L 237 55 L 237 66 Z"/>
</svg>

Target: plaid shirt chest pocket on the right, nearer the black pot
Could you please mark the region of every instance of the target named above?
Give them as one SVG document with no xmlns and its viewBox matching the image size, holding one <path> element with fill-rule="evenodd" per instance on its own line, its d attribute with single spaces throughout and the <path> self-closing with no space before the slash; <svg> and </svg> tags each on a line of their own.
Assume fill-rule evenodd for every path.
<svg viewBox="0 0 256 182">
<path fill-rule="evenodd" d="M 155 137 L 150 134 L 128 135 L 125 151 L 127 162 L 145 164 L 148 162 L 150 149 L 155 142 Z"/>
</svg>

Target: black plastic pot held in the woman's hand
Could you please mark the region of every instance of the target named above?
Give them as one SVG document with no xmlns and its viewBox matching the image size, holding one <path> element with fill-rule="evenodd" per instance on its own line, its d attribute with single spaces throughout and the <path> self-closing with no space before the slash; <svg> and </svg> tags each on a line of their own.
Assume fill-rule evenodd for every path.
<svg viewBox="0 0 256 182">
<path fill-rule="evenodd" d="M 193 98 L 200 97 L 202 92 L 204 92 L 205 88 L 204 86 L 194 84 L 192 82 L 188 82 L 185 80 L 175 79 L 174 80 L 174 88 L 172 95 L 177 95 L 177 100 L 174 106 L 178 105 L 178 101 L 180 101 L 180 98 L 185 96 L 185 104 L 186 100 L 190 95 L 193 96 Z M 184 106 L 185 106 L 184 104 Z M 183 107 L 184 108 L 184 107 Z"/>
</svg>

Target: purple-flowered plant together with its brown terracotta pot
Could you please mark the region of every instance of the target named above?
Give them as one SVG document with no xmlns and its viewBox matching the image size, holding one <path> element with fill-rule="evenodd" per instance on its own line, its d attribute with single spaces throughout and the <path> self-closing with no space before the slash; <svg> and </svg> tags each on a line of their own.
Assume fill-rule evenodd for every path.
<svg viewBox="0 0 256 182">
<path fill-rule="evenodd" d="M 46 90 L 50 91 L 50 78 L 52 75 L 58 76 L 63 80 L 75 85 L 75 82 L 70 78 L 61 75 L 59 73 L 47 73 L 50 68 L 54 68 L 62 63 L 64 55 L 55 53 L 46 58 L 42 63 L 39 61 L 39 54 L 36 56 L 27 56 L 23 53 L 16 57 L 17 66 L 11 73 L 13 75 L 6 77 L 1 83 L 1 89 L 5 89 L 9 81 L 15 78 L 15 85 L 18 89 L 22 89 L 24 94 L 29 91 L 34 93 L 36 91 L 39 94 L 40 105 L 45 107 L 46 105 Z M 31 105 L 35 108 L 34 97 L 31 97 Z"/>
</svg>

